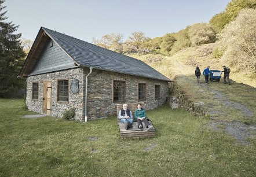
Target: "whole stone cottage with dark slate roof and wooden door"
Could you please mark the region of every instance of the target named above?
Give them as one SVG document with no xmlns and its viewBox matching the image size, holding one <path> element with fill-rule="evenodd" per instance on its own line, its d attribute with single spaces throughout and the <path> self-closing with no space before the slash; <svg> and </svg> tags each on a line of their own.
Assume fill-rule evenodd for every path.
<svg viewBox="0 0 256 177">
<path fill-rule="evenodd" d="M 19 76 L 29 110 L 61 117 L 74 108 L 87 121 L 116 114 L 116 104 L 162 105 L 169 82 L 144 62 L 41 27 Z"/>
</svg>

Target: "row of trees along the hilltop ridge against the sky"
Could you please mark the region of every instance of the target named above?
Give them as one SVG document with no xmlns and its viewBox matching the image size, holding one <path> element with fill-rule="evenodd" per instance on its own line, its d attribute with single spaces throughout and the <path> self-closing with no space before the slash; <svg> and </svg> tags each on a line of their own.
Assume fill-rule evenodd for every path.
<svg viewBox="0 0 256 177">
<path fill-rule="evenodd" d="M 118 50 L 116 50 L 116 47 L 111 49 L 114 34 L 104 35 L 100 40 L 94 39 L 93 43 L 125 54 L 161 53 L 171 56 L 186 47 L 214 43 L 217 39 L 216 34 L 219 34 L 225 25 L 231 23 L 242 9 L 255 7 L 255 0 L 232 0 L 226 6 L 225 11 L 216 14 L 209 24 L 188 25 L 188 27 L 181 29 L 177 33 L 167 33 L 164 36 L 153 39 L 147 38 L 141 31 L 131 33 L 125 42 L 122 42 L 122 35 L 116 35 L 120 37 L 119 40 L 116 40 L 116 45 L 119 46 Z"/>
</svg>

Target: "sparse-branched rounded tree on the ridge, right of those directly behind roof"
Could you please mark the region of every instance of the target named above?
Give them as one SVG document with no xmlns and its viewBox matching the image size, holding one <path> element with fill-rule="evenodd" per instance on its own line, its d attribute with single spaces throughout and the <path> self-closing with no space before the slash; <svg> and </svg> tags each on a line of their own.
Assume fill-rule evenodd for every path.
<svg viewBox="0 0 256 177">
<path fill-rule="evenodd" d="M 137 51 L 138 56 L 141 52 L 145 50 L 145 43 L 149 40 L 145 36 L 145 34 L 141 31 L 139 32 L 133 32 L 131 33 L 131 36 L 126 41 L 126 47 L 129 48 L 129 50 L 135 50 Z"/>
</svg>

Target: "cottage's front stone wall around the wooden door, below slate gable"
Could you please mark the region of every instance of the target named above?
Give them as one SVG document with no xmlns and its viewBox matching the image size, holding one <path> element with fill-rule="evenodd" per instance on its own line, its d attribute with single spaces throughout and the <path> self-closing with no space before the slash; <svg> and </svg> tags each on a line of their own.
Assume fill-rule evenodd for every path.
<svg viewBox="0 0 256 177">
<path fill-rule="evenodd" d="M 33 110 L 38 113 L 43 113 L 43 82 L 52 82 L 52 116 L 62 117 L 65 110 L 69 108 L 75 108 L 76 115 L 75 119 L 80 119 L 84 115 L 84 80 L 83 80 L 83 69 L 68 69 L 65 71 L 59 71 L 54 73 L 46 73 L 42 75 L 30 76 L 27 78 L 27 105 L 29 110 Z M 57 102 L 57 82 L 58 79 L 68 79 L 68 83 L 71 83 L 71 79 L 78 79 L 79 92 L 71 93 L 69 89 L 69 102 L 60 103 Z M 32 100 L 32 83 L 39 83 L 38 101 Z"/>
</svg>

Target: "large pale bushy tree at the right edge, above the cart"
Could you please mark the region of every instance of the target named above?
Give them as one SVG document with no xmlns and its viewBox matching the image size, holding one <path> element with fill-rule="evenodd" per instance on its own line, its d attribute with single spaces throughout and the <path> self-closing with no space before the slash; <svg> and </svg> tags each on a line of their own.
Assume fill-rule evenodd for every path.
<svg viewBox="0 0 256 177">
<path fill-rule="evenodd" d="M 256 73 L 256 9 L 243 9 L 219 36 L 222 62 Z M 246 68 L 246 70 L 244 70 Z"/>
</svg>

